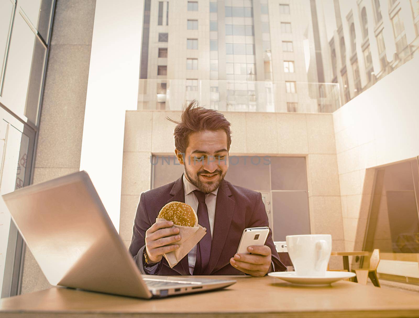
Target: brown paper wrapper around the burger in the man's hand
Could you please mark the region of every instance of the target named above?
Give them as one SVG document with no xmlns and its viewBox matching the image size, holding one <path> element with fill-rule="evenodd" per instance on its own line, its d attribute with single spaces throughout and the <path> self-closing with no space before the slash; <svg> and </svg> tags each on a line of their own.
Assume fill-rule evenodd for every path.
<svg viewBox="0 0 419 318">
<path fill-rule="evenodd" d="M 157 218 L 156 222 L 158 221 L 166 221 L 166 219 Z M 179 263 L 207 233 L 207 229 L 199 224 L 197 227 L 182 227 L 180 225 L 173 225 L 172 227 L 177 227 L 179 229 L 177 235 L 181 236 L 181 240 L 173 243 L 179 245 L 177 250 L 163 254 L 164 258 L 166 258 L 166 261 L 169 263 L 170 268 L 173 268 L 173 266 Z"/>
</svg>

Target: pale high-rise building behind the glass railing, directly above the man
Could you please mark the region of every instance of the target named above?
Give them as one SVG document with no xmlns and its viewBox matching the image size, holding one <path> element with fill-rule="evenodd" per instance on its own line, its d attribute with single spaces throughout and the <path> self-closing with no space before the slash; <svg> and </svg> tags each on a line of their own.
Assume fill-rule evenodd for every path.
<svg viewBox="0 0 419 318">
<path fill-rule="evenodd" d="M 315 0 L 145 0 L 138 109 L 336 109 L 323 19 Z"/>
</svg>

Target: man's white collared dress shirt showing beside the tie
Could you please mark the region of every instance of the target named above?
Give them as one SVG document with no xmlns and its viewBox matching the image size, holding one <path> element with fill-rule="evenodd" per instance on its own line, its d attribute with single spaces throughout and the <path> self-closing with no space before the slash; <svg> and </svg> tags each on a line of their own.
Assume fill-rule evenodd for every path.
<svg viewBox="0 0 419 318">
<path fill-rule="evenodd" d="M 186 179 L 185 174 L 183 175 L 184 181 L 184 191 L 185 191 L 185 203 L 189 204 L 192 209 L 194 209 L 195 213 L 198 213 L 198 199 L 193 193 L 194 190 L 198 188 L 195 187 L 188 179 Z M 199 190 L 199 189 L 198 189 Z M 211 238 L 212 232 L 214 231 L 214 219 L 215 219 L 215 203 L 217 203 L 217 193 L 218 188 L 205 195 L 205 203 L 207 204 L 208 209 L 208 219 L 209 219 L 209 227 L 211 230 Z M 208 229 L 207 229 L 208 230 Z M 189 273 L 192 275 L 195 268 L 195 262 L 197 260 L 197 245 L 191 249 L 188 253 L 188 263 L 189 263 Z"/>
</svg>

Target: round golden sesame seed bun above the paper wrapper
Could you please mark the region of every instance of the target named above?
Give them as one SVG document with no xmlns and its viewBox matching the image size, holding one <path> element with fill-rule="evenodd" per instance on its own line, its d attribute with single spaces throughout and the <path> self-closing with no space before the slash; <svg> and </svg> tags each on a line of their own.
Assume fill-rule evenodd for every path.
<svg viewBox="0 0 419 318">
<path fill-rule="evenodd" d="M 172 221 L 173 224 L 183 227 L 196 227 L 198 216 L 189 204 L 172 201 L 160 210 L 158 218 Z"/>
</svg>

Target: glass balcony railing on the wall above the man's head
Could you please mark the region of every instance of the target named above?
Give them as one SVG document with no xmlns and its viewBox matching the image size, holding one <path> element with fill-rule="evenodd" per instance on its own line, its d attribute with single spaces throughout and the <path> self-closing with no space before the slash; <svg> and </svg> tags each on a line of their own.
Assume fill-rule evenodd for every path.
<svg viewBox="0 0 419 318">
<path fill-rule="evenodd" d="M 338 83 L 140 79 L 138 109 L 181 110 L 196 99 L 203 107 L 236 112 L 334 112 Z"/>
</svg>

